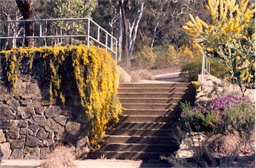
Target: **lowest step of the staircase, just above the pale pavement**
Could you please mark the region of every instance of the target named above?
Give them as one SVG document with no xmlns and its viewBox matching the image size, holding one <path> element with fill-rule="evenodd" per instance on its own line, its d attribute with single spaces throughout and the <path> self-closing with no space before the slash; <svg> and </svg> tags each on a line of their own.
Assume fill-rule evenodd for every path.
<svg viewBox="0 0 256 168">
<path fill-rule="evenodd" d="M 161 155 L 169 156 L 171 152 L 144 152 L 144 151 L 94 151 L 89 153 L 91 159 L 130 159 L 130 160 L 158 160 Z M 170 165 L 168 167 L 171 167 Z"/>
</svg>

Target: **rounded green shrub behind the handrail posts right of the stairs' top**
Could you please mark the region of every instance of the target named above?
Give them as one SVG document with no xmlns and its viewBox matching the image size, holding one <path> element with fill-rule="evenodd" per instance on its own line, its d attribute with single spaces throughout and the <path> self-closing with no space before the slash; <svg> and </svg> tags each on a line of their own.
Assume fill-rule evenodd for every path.
<svg viewBox="0 0 256 168">
<path fill-rule="evenodd" d="M 227 66 L 224 66 L 222 64 L 217 64 L 211 58 L 209 58 L 209 61 L 211 65 L 210 74 L 221 79 L 229 76 L 229 68 L 227 68 Z M 201 74 L 201 68 L 202 68 L 202 57 L 196 56 L 195 58 L 189 60 L 189 62 L 181 66 L 181 77 L 187 78 L 188 81 L 197 80 L 198 75 Z M 188 76 L 185 75 L 187 73 L 188 73 Z"/>
</svg>

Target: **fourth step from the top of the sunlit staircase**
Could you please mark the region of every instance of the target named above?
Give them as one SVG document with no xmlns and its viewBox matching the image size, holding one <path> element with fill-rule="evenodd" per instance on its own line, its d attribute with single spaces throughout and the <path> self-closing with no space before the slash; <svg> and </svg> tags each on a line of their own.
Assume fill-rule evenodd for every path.
<svg viewBox="0 0 256 168">
<path fill-rule="evenodd" d="M 178 104 L 195 98 L 119 98 L 121 104 L 127 103 L 151 103 L 151 104 Z"/>
</svg>

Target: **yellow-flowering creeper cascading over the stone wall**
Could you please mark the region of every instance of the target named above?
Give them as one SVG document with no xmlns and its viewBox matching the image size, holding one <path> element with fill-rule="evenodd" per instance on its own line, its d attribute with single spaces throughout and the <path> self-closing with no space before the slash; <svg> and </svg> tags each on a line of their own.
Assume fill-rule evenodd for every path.
<svg viewBox="0 0 256 168">
<path fill-rule="evenodd" d="M 49 82 L 50 101 L 60 98 L 65 104 L 65 82 L 75 80 L 81 106 L 89 121 L 91 144 L 100 147 L 105 129 L 117 122 L 121 113 L 121 104 L 117 98 L 118 71 L 111 54 L 97 46 L 90 46 L 87 50 L 87 46 L 83 44 L 2 50 L 1 56 L 6 62 L 7 79 L 13 89 L 16 88 L 21 60 L 29 58 L 29 68 L 32 68 L 35 54 L 41 55 Z M 68 60 L 71 60 L 71 65 Z M 73 70 L 68 72 L 66 77 L 65 66 L 70 66 L 69 69 Z"/>
</svg>

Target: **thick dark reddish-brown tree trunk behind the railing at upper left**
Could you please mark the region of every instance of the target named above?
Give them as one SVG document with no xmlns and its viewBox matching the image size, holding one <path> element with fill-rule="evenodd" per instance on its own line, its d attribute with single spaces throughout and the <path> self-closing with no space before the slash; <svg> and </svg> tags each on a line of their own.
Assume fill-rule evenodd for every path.
<svg viewBox="0 0 256 168">
<path fill-rule="evenodd" d="M 16 0 L 17 6 L 19 7 L 19 11 L 23 15 L 23 19 L 33 19 L 33 12 L 31 8 L 30 0 Z M 33 36 L 34 33 L 34 24 L 33 22 L 25 23 L 25 36 Z M 25 46 L 29 46 L 29 48 L 33 48 L 35 46 L 34 39 L 25 39 Z"/>
</svg>

